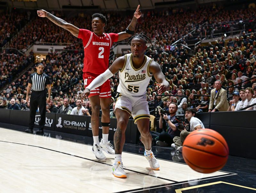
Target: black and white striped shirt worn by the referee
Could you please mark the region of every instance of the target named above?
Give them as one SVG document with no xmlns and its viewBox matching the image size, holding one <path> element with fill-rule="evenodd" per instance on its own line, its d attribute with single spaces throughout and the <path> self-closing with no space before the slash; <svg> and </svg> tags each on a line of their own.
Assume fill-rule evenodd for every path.
<svg viewBox="0 0 256 193">
<path fill-rule="evenodd" d="M 34 91 L 43 91 L 45 86 L 50 83 L 50 78 L 45 73 L 38 74 L 33 73 L 29 76 L 28 83 L 32 84 L 32 89 Z"/>
</svg>

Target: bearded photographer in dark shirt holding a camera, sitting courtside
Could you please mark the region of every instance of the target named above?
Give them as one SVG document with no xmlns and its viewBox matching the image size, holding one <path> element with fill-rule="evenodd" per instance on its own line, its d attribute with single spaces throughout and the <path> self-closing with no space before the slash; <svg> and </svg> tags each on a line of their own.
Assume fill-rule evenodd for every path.
<svg viewBox="0 0 256 193">
<path fill-rule="evenodd" d="M 178 110 L 178 106 L 175 103 L 169 105 L 169 112 L 163 109 L 159 110 L 159 128 L 163 131 L 159 134 L 158 141 L 156 145 L 158 146 L 171 146 L 173 143 L 173 138 L 175 136 L 180 136 L 180 131 L 178 130 L 178 122 L 175 120 L 175 115 Z M 170 115 L 167 115 L 169 113 Z M 165 121 L 165 128 L 163 128 L 163 122 Z"/>
</svg>

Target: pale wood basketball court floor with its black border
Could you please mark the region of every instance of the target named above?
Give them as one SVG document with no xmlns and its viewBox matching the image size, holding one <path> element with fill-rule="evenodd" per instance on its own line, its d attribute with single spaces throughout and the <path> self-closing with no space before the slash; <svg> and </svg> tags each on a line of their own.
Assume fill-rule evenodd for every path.
<svg viewBox="0 0 256 193">
<path fill-rule="evenodd" d="M 153 146 L 160 163 L 154 171 L 142 145 L 125 143 L 127 178 L 119 179 L 111 174 L 114 156 L 98 161 L 91 137 L 49 130 L 35 135 L 25 129 L 0 123 L 0 192 L 256 192 L 254 159 L 229 156 L 221 171 L 201 174 L 185 164 L 182 154 Z"/>
</svg>

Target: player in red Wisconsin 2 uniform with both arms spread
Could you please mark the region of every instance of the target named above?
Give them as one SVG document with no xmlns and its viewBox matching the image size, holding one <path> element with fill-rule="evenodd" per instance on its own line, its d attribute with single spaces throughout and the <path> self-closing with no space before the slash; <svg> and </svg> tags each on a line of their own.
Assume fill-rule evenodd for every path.
<svg viewBox="0 0 256 193">
<path fill-rule="evenodd" d="M 140 5 L 133 14 L 133 18 L 125 32 L 118 34 L 103 33 L 107 24 L 107 19 L 100 13 L 92 15 L 92 32 L 87 29 L 79 29 L 78 27 L 60 19 L 44 10 L 37 11 L 39 17 L 46 17 L 56 25 L 68 30 L 74 36 L 81 38 L 84 45 L 84 69 L 83 79 L 85 88 L 101 73 L 108 69 L 108 59 L 110 48 L 113 42 L 122 41 L 134 34 L 137 19 L 141 16 Z M 108 130 L 110 125 L 109 106 L 110 106 L 110 83 L 106 81 L 100 87 L 91 90 L 89 100 L 92 105 L 92 135 L 93 147 L 92 152 L 99 160 L 104 160 L 106 156 L 102 152 L 115 155 L 113 145 L 108 141 Z M 102 140 L 99 142 L 99 114 L 100 107 L 102 111 Z"/>
</svg>

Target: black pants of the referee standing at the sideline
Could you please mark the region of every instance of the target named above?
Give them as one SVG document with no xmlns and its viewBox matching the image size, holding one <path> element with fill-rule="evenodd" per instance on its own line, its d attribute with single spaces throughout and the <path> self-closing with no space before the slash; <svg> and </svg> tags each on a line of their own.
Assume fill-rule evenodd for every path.
<svg viewBox="0 0 256 193">
<path fill-rule="evenodd" d="M 29 129 L 33 129 L 35 126 L 36 110 L 39 106 L 39 112 L 41 115 L 39 121 L 39 129 L 44 129 L 45 124 L 45 113 L 46 113 L 46 92 L 43 91 L 32 91 L 30 98 L 30 113 L 29 113 Z"/>
</svg>

